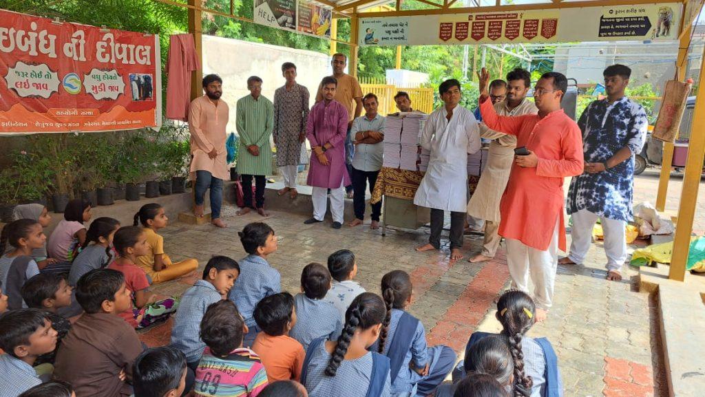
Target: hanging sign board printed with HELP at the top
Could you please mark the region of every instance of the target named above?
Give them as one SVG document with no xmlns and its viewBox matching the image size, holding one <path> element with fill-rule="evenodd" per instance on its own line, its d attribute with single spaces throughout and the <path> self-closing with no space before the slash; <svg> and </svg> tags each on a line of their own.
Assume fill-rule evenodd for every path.
<svg viewBox="0 0 705 397">
<path fill-rule="evenodd" d="M 316 37 L 331 37 L 333 11 L 306 0 L 255 0 L 255 23 Z"/>
</svg>

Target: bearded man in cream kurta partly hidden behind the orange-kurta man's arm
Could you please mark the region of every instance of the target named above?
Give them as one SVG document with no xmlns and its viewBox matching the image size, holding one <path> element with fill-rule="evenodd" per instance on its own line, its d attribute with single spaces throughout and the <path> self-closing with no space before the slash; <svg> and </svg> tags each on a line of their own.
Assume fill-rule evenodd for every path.
<svg viewBox="0 0 705 397">
<path fill-rule="evenodd" d="M 537 114 L 534 102 L 526 99 L 531 85 L 531 75 L 528 71 L 516 68 L 507 73 L 506 99 L 494 104 L 494 110 L 500 116 L 521 116 L 522 114 Z M 467 204 L 467 214 L 477 219 L 485 220 L 484 241 L 482 252 L 468 259 L 470 262 L 482 262 L 492 259 L 497 253 L 502 238 L 499 236 L 499 202 L 507 187 L 509 173 L 514 161 L 514 149 L 517 138 L 506 135 L 480 125 L 480 137 L 491 139 L 487 165 L 482 171 L 477 189 L 470 203 Z"/>
</svg>

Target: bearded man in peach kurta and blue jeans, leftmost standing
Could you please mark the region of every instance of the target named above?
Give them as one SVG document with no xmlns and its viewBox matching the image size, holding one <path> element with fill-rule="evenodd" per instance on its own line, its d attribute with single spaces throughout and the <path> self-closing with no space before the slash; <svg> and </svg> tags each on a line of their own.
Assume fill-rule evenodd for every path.
<svg viewBox="0 0 705 397">
<path fill-rule="evenodd" d="M 211 222 L 224 228 L 220 219 L 223 202 L 223 179 L 228 178 L 228 152 L 225 147 L 228 125 L 228 104 L 220 99 L 223 80 L 218 75 L 203 78 L 206 92 L 191 102 L 188 110 L 188 130 L 191 133 L 191 172 L 195 181 L 194 214 L 203 216 L 203 200 L 211 189 Z"/>
</svg>

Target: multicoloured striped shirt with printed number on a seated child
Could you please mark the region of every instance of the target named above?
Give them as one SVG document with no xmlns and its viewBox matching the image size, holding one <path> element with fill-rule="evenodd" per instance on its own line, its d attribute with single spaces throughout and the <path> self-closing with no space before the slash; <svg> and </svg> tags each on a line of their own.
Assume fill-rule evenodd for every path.
<svg viewBox="0 0 705 397">
<path fill-rule="evenodd" d="M 237 348 L 224 358 L 206 348 L 196 369 L 194 391 L 206 397 L 255 397 L 268 384 L 259 356 L 248 348 Z"/>
</svg>

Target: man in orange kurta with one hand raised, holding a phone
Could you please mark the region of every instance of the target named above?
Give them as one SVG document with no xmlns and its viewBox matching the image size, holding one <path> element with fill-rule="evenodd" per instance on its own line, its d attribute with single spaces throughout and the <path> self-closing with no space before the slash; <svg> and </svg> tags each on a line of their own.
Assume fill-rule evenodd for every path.
<svg viewBox="0 0 705 397">
<path fill-rule="evenodd" d="M 534 87 L 539 114 L 498 116 L 487 100 L 489 74 L 480 76 L 480 112 L 487 127 L 517 136 L 517 148 L 507 188 L 500 202 L 499 234 L 506 239 L 507 264 L 514 288 L 528 292 L 534 283 L 537 321 L 546 318 L 553 301 L 558 249 L 565 251 L 563 179 L 583 171 L 582 134 L 560 109 L 568 80 L 545 73 Z M 520 149 L 517 149 L 520 150 Z"/>
</svg>

